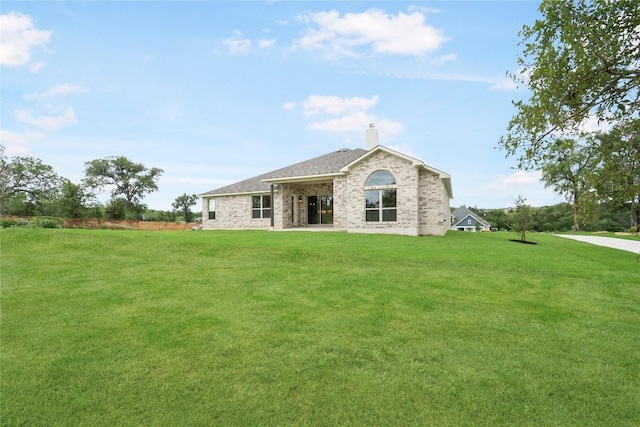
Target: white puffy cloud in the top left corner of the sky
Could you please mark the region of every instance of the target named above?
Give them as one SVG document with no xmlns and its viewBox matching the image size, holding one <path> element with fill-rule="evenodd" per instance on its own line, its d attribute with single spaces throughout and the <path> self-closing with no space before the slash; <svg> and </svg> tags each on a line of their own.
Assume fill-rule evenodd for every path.
<svg viewBox="0 0 640 427">
<path fill-rule="evenodd" d="M 0 65 L 20 67 L 31 62 L 31 49 L 49 43 L 51 31 L 37 30 L 29 15 L 10 12 L 0 15 Z M 37 72 L 42 64 L 33 64 Z"/>
</svg>

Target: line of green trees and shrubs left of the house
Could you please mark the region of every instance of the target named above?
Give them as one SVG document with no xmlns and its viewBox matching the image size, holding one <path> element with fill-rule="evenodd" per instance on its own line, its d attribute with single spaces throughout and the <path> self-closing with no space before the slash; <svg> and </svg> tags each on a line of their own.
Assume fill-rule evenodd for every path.
<svg viewBox="0 0 640 427">
<path fill-rule="evenodd" d="M 7 157 L 0 145 L 0 215 L 193 221 L 195 194 L 177 197 L 170 211 L 150 210 L 143 203 L 145 195 L 158 190 L 162 173 L 126 157 L 106 157 L 86 162 L 84 179 L 74 183 L 38 158 Z M 104 204 L 96 196 L 100 191 L 111 194 Z"/>
</svg>

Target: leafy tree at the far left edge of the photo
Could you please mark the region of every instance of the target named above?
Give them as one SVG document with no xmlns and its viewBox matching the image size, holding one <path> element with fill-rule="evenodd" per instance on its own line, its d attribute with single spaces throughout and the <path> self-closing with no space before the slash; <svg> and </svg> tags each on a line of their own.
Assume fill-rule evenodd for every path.
<svg viewBox="0 0 640 427">
<path fill-rule="evenodd" d="M 0 214 L 8 213 L 8 202 L 26 206 L 23 214 L 39 214 L 45 202 L 56 199 L 63 178 L 35 157 L 8 158 L 0 146 Z"/>
</svg>

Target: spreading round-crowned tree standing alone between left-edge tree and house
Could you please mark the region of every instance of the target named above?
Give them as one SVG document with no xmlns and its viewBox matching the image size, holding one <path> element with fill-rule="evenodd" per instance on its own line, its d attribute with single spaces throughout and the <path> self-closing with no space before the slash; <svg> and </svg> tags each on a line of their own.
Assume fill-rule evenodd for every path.
<svg viewBox="0 0 640 427">
<path fill-rule="evenodd" d="M 83 183 L 91 189 L 109 188 L 112 200 L 122 199 L 128 211 L 140 213 L 144 195 L 158 190 L 162 173 L 162 169 L 147 169 L 123 156 L 105 157 L 85 163 Z"/>
</svg>

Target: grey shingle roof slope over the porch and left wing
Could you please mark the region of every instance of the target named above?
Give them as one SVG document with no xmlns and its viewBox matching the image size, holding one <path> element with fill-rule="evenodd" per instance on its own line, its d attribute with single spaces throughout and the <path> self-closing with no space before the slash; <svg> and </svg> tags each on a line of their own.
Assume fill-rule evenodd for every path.
<svg viewBox="0 0 640 427">
<path fill-rule="evenodd" d="M 366 150 L 361 148 L 353 150 L 343 148 L 342 150 L 334 151 L 333 153 L 305 160 L 291 166 L 276 169 L 253 178 L 245 179 L 244 181 L 208 191 L 201 194 L 201 196 L 269 191 L 269 184 L 267 182 L 263 182 L 268 179 L 337 174 L 340 173 L 340 169 L 361 157 L 366 152 Z"/>
</svg>

